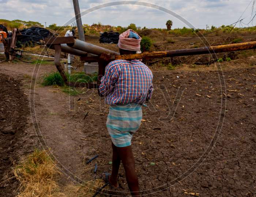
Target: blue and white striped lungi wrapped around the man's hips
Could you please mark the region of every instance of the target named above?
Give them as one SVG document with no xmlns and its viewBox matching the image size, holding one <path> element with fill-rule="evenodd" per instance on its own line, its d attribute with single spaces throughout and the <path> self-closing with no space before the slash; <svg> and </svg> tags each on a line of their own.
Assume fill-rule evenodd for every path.
<svg viewBox="0 0 256 197">
<path fill-rule="evenodd" d="M 142 121 L 142 104 L 112 105 L 109 108 L 107 128 L 113 144 L 117 147 L 131 145 L 133 134 Z"/>
</svg>

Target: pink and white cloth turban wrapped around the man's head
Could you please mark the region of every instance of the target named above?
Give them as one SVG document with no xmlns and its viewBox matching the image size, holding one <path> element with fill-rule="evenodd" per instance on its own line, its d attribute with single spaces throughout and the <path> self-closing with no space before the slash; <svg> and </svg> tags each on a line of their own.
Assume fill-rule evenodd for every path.
<svg viewBox="0 0 256 197">
<path fill-rule="evenodd" d="M 139 39 L 136 38 L 129 38 L 130 32 L 138 35 Z M 123 34 L 119 35 L 118 47 L 120 49 L 129 50 L 129 51 L 140 51 L 140 41 L 141 37 L 135 31 L 129 29 Z"/>
</svg>

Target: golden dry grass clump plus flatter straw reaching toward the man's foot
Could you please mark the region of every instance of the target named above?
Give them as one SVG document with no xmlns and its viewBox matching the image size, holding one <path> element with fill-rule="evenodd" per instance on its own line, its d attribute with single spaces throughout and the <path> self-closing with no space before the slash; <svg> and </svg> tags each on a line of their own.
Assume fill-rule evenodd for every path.
<svg viewBox="0 0 256 197">
<path fill-rule="evenodd" d="M 84 170 L 88 171 L 91 167 L 89 165 Z M 57 181 L 61 173 L 56 162 L 49 157 L 47 151 L 39 150 L 35 150 L 16 166 L 14 174 L 20 181 L 18 197 L 91 197 L 95 190 L 104 185 L 102 180 L 96 179 L 80 185 L 71 183 L 60 188 Z"/>
</svg>

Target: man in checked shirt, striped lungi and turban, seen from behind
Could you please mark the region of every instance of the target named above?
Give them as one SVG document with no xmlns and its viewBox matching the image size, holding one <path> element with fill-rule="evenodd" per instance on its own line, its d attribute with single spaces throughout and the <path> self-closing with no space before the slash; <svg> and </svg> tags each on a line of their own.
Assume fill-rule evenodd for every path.
<svg viewBox="0 0 256 197">
<path fill-rule="evenodd" d="M 119 36 L 120 54 L 140 52 L 141 37 L 133 30 Z M 110 55 L 103 53 L 99 58 L 99 96 L 105 96 L 110 105 L 107 128 L 112 140 L 112 174 L 102 174 L 113 188 L 118 188 L 117 176 L 122 161 L 129 190 L 139 196 L 139 183 L 135 171 L 135 159 L 131 140 L 142 121 L 142 106 L 151 99 L 153 74 L 139 60 L 115 60 L 109 63 Z M 108 64 L 109 63 L 109 64 Z M 106 67 L 105 75 L 104 69 Z M 102 78 L 101 78 L 102 77 Z"/>
</svg>

